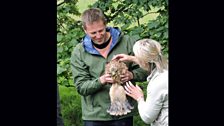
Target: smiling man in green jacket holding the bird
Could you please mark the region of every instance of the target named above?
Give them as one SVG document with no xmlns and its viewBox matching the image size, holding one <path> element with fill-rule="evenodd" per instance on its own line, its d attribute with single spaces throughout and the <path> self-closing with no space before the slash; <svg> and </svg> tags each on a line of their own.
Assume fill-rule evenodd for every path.
<svg viewBox="0 0 224 126">
<path fill-rule="evenodd" d="M 111 116 L 109 90 L 113 80 L 104 74 L 105 64 L 114 55 L 133 55 L 133 38 L 124 35 L 118 28 L 107 27 L 106 18 L 98 8 L 88 9 L 82 14 L 83 29 L 86 33 L 73 50 L 71 67 L 78 93 L 82 96 L 82 119 L 85 126 L 132 126 L 137 102 L 127 97 L 135 109 L 124 116 Z M 128 72 L 122 75 L 122 82 L 144 81 L 147 73 L 138 65 L 126 63 Z"/>
</svg>

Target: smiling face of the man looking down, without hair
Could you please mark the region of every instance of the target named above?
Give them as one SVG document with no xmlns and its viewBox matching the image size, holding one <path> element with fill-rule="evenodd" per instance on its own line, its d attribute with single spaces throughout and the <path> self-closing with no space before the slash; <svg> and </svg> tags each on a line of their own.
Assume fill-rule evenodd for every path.
<svg viewBox="0 0 224 126">
<path fill-rule="evenodd" d="M 106 41 L 106 26 L 101 20 L 92 24 L 86 24 L 84 31 L 91 37 L 94 43 L 103 44 Z"/>
</svg>

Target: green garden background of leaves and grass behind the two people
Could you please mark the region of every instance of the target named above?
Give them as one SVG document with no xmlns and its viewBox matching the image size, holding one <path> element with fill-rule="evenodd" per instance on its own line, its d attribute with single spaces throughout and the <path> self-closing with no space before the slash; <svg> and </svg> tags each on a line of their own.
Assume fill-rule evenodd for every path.
<svg viewBox="0 0 224 126">
<path fill-rule="evenodd" d="M 104 11 L 108 26 L 119 27 L 136 39 L 159 41 L 163 54 L 168 57 L 168 0 L 57 0 L 57 82 L 65 126 L 83 125 L 81 99 L 74 87 L 70 56 L 85 34 L 80 15 L 90 7 Z M 146 87 L 147 82 L 139 85 Z M 137 115 L 134 126 L 148 125 Z"/>
</svg>

